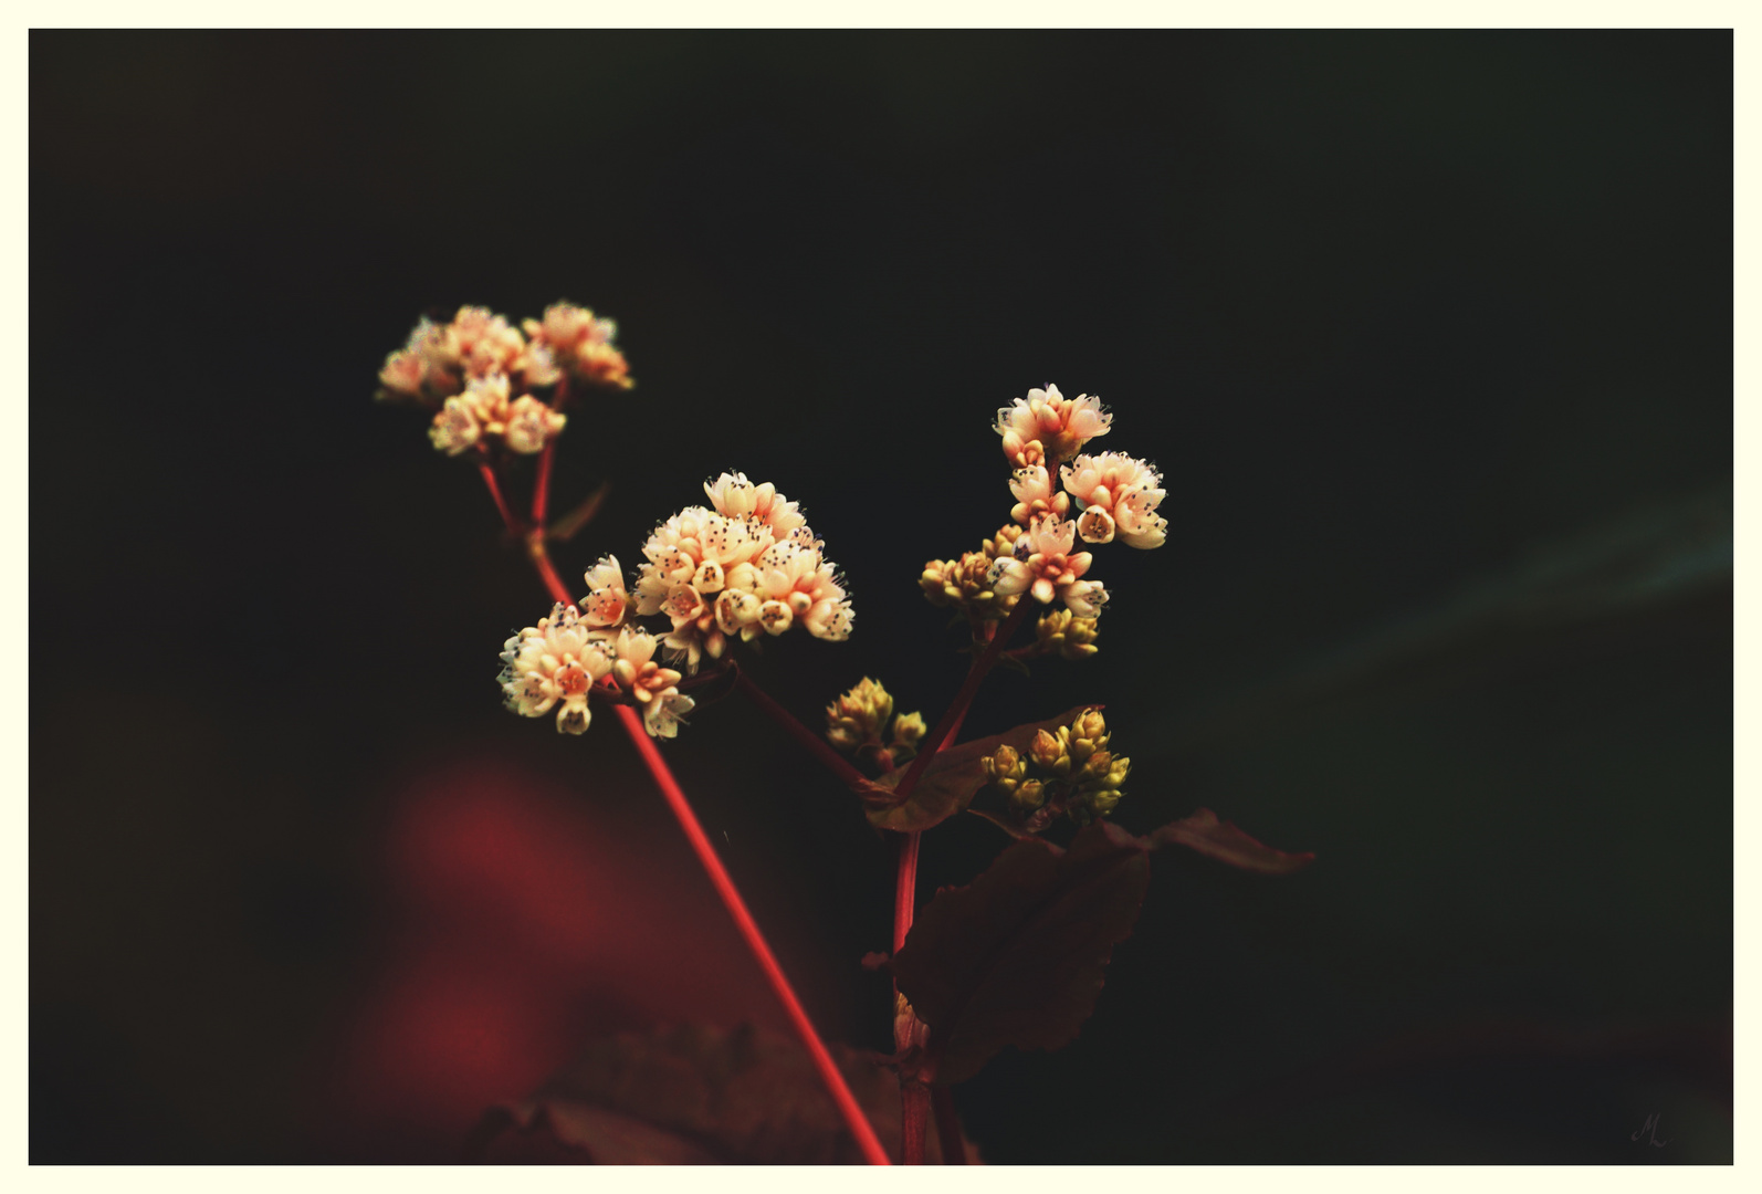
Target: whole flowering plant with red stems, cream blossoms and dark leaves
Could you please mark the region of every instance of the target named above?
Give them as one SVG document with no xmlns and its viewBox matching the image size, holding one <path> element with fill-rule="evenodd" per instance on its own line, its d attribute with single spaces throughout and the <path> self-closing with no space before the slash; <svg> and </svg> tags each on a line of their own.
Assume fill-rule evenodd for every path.
<svg viewBox="0 0 1762 1194">
<path fill-rule="evenodd" d="M 1010 520 L 978 549 L 927 562 L 918 578 L 923 597 L 953 609 L 971 634 L 973 662 L 960 690 L 927 729 L 920 713 L 895 710 L 881 682 L 862 678 L 833 696 L 825 731 L 814 733 L 738 662 L 742 645 L 761 636 L 800 629 L 842 643 L 855 627 L 848 586 L 825 541 L 775 484 L 744 472 L 703 483 L 708 504 L 685 505 L 657 523 L 640 548 L 636 572 L 603 555 L 571 588 L 552 564 L 550 542 L 578 532 L 603 497 L 548 525 L 566 410 L 589 391 L 634 386 L 615 331 L 611 321 L 567 303 L 522 328 L 465 306 L 444 324 L 421 321 L 381 370 L 381 398 L 430 412 L 433 447 L 478 465 L 507 530 L 525 544 L 552 595 L 550 611 L 502 646 L 502 699 L 518 715 L 553 717 L 566 734 L 585 733 L 596 704 L 615 711 L 789 1014 L 809 1060 L 802 1074 L 812 1072 L 837 1109 L 830 1129 L 837 1139 L 821 1139 L 825 1148 L 809 1150 L 812 1159 L 844 1157 L 855 1143 L 872 1164 L 922 1164 L 932 1153 L 927 1125 L 934 1117 L 934 1153 L 964 1162 L 967 1145 L 951 1087 L 1008 1044 L 1057 1048 L 1075 1037 L 1094 1007 L 1114 946 L 1136 921 L 1151 852 L 1181 845 L 1262 873 L 1288 873 L 1311 859 L 1262 845 L 1205 808 L 1144 837 L 1121 829 L 1110 815 L 1124 798 L 1131 759 L 1115 750 L 1101 704 L 1077 704 L 1001 734 L 955 741 L 999 662 L 1025 671 L 1036 657 L 1082 660 L 1099 650 L 1098 620 L 1108 590 L 1091 576 L 1089 548 L 1163 546 L 1161 474 L 1135 456 L 1085 451 L 1114 431 L 1114 416 L 1094 396 L 1066 398 L 1047 386 L 997 410 L 992 431 L 1013 468 Z M 530 518 L 518 518 L 504 497 L 502 467 L 511 456 L 534 454 Z M 1033 638 L 1011 648 L 1029 616 Z M 899 838 L 892 949 L 865 960 L 895 979 L 895 1050 L 879 1058 L 897 1085 L 893 1108 L 877 1106 L 874 1076 L 863 1069 L 872 1069 L 872 1058 L 863 1062 L 849 1050 L 835 1058 L 816 1034 L 655 745 L 680 736 L 698 706 L 691 692 L 707 685 L 744 692 L 849 789 L 853 812 Z M 1013 842 L 969 886 L 944 889 L 920 910 L 920 838 L 962 812 L 985 817 Z M 1059 847 L 1043 835 L 1066 817 L 1078 829 Z M 729 1050 L 747 1060 L 729 1062 Z M 682 1051 L 696 1058 L 691 1064 L 717 1072 L 758 1065 L 758 1053 L 738 1041 L 701 1036 L 629 1046 L 604 1064 L 640 1069 L 664 1055 L 675 1065 Z M 705 1060 L 712 1057 L 721 1060 Z M 765 1081 L 754 1080 L 756 1092 L 786 1081 L 777 1078 L 782 1060 L 765 1064 L 777 1069 L 766 1069 Z M 604 1067 L 594 1072 L 603 1076 Z M 571 1088 L 578 1099 L 589 1097 L 580 1081 Z M 596 1104 L 615 1104 L 613 1088 L 627 1095 L 629 1083 L 601 1083 Z M 525 1115 L 530 1125 L 532 1108 Z M 654 1108 L 645 1115 L 654 1120 Z M 580 1115 L 550 1117 L 555 1131 L 594 1155 L 622 1157 L 613 1139 L 583 1122 Z M 886 1124 L 888 1143 L 877 1124 Z M 701 1138 L 722 1127 L 696 1124 L 691 1131 Z M 745 1145 L 731 1145 L 735 1153 L 752 1157 L 751 1148 L 742 1152 L 752 1143 L 751 1131 L 740 1139 Z"/>
</svg>

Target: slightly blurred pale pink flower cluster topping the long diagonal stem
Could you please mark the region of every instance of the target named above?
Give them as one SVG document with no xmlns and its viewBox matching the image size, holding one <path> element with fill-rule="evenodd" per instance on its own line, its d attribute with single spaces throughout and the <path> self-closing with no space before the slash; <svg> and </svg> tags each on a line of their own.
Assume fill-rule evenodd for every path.
<svg viewBox="0 0 1762 1194">
<path fill-rule="evenodd" d="M 562 431 L 566 416 L 532 389 L 564 377 L 629 389 L 629 365 L 611 345 L 617 328 L 594 312 L 557 303 L 544 321 L 525 321 L 527 333 L 485 306 L 462 306 L 451 322 L 423 319 L 409 343 L 386 357 L 379 398 L 412 402 L 433 410 L 428 439 L 458 456 L 472 447 L 506 444 L 532 454 Z"/>
</svg>

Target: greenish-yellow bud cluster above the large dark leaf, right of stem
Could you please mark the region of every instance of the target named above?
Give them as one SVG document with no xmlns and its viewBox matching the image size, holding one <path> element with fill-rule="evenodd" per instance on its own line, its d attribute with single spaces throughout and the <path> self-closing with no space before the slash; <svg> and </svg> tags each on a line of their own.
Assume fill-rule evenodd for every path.
<svg viewBox="0 0 1762 1194">
<path fill-rule="evenodd" d="M 1061 814 L 1087 824 L 1114 812 L 1131 771 L 1131 759 L 1107 748 L 1108 738 L 1101 710 L 1084 710 L 1070 726 L 1052 733 L 1034 731 L 1025 754 L 1010 745 L 997 747 L 983 761 L 985 777 L 1033 833 Z"/>
</svg>

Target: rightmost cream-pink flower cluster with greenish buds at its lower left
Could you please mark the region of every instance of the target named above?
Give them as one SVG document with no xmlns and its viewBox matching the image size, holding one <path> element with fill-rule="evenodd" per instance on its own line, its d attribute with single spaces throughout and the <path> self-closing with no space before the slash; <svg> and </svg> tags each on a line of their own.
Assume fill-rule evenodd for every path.
<svg viewBox="0 0 1762 1194">
<path fill-rule="evenodd" d="M 1087 579 L 1094 558 L 1077 551 L 1077 541 L 1156 548 L 1168 532 L 1168 521 L 1156 512 L 1166 491 L 1152 465 L 1121 453 L 1080 454 L 1112 424 L 1099 398 L 1064 398 L 1057 386 L 1031 389 L 1027 398 L 999 409 L 992 430 L 1015 465 L 1013 521 L 980 551 L 925 564 L 918 579 L 923 595 L 960 608 L 974 622 L 1008 616 L 1024 593 L 1040 604 L 1062 601 L 1068 616 L 1043 623 L 1040 653 L 1092 655 L 1094 618 L 1108 593 Z"/>
</svg>

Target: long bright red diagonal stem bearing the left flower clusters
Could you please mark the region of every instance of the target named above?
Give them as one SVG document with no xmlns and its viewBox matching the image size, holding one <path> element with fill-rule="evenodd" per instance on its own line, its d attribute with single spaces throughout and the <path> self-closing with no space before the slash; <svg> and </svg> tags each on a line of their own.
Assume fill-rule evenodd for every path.
<svg viewBox="0 0 1762 1194">
<path fill-rule="evenodd" d="M 513 514 L 507 511 L 507 502 L 502 500 L 500 488 L 495 484 L 495 472 L 485 463 L 483 479 L 490 486 L 490 493 L 495 497 L 495 505 L 502 512 L 502 521 L 507 528 L 518 534 L 518 527 Z M 544 551 L 544 539 L 534 537 L 530 541 L 530 555 L 534 565 L 537 565 L 539 578 L 544 581 L 544 588 L 550 590 L 552 597 L 571 604 L 569 590 L 564 588 L 562 581 L 557 578 L 557 571 L 550 564 L 550 555 Z M 819 1034 L 814 1032 L 814 1023 L 807 1018 L 807 1011 L 802 1007 L 802 1000 L 795 997 L 795 990 L 789 986 L 789 979 L 784 976 L 782 967 L 777 965 L 777 956 L 770 951 L 765 942 L 765 933 L 759 932 L 758 921 L 752 919 L 752 912 L 747 910 L 745 900 L 740 898 L 740 889 L 735 888 L 733 877 L 722 866 L 722 859 L 715 856 L 715 847 L 710 845 L 708 835 L 698 822 L 698 815 L 691 810 L 685 801 L 685 792 L 680 789 L 678 780 L 673 778 L 671 768 L 668 768 L 666 759 L 661 757 L 661 750 L 655 748 L 654 740 L 648 731 L 643 729 L 641 715 L 627 704 L 613 706 L 618 713 L 618 724 L 624 726 L 624 733 L 636 745 L 636 754 L 641 755 L 643 763 L 648 764 L 648 773 L 654 777 L 655 787 L 661 789 L 661 796 L 666 800 L 668 808 L 678 819 L 680 828 L 685 831 L 685 840 L 691 842 L 691 849 L 698 854 L 698 861 L 703 865 L 705 873 L 710 877 L 710 884 L 715 886 L 715 895 L 722 898 L 722 907 L 735 921 L 735 928 L 740 930 L 740 937 L 745 940 L 747 949 L 752 951 L 752 958 L 759 963 L 765 972 L 766 981 L 770 981 L 772 991 L 777 995 L 777 1002 L 782 1004 L 784 1013 L 789 1016 L 789 1025 L 795 1028 L 796 1037 L 807 1048 L 809 1057 L 814 1058 L 814 1069 L 819 1071 L 821 1081 L 826 1085 L 826 1092 L 839 1108 L 839 1115 L 844 1117 L 844 1124 L 851 1129 L 851 1136 L 856 1138 L 856 1146 L 862 1148 L 863 1159 L 872 1166 L 892 1164 L 886 1157 L 886 1150 L 881 1148 L 881 1141 L 876 1138 L 876 1129 L 870 1127 L 869 1117 L 863 1115 L 862 1106 L 856 1102 L 856 1095 L 844 1083 L 844 1074 L 839 1072 L 837 1064 L 832 1060 L 832 1053 L 826 1051 L 825 1043 Z"/>
</svg>

